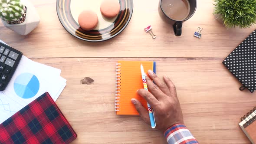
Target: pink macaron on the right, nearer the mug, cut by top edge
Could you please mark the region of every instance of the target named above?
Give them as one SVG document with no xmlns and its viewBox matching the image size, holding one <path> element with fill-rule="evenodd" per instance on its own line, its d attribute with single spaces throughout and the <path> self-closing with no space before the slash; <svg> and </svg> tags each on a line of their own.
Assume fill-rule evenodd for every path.
<svg viewBox="0 0 256 144">
<path fill-rule="evenodd" d="M 113 18 L 120 12 L 119 0 L 103 0 L 100 11 L 103 16 Z"/>
</svg>

